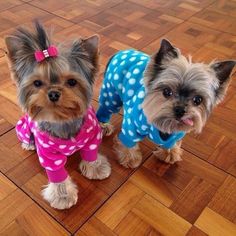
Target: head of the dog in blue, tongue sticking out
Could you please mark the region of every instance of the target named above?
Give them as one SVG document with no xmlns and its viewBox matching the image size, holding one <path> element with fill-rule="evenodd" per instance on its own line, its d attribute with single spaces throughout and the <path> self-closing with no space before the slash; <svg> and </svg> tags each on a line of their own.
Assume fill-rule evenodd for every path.
<svg viewBox="0 0 236 236">
<path fill-rule="evenodd" d="M 235 61 L 192 63 L 163 40 L 145 71 L 143 110 L 148 121 L 165 133 L 201 132 L 222 101 Z"/>
</svg>

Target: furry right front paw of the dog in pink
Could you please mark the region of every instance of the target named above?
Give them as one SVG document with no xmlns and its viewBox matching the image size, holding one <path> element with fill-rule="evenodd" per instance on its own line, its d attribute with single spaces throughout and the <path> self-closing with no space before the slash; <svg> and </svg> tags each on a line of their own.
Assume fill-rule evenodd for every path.
<svg viewBox="0 0 236 236">
<path fill-rule="evenodd" d="M 106 179 L 111 174 L 111 166 L 107 158 L 98 154 L 96 161 L 88 162 L 82 160 L 79 165 L 81 174 L 88 179 Z"/>
</svg>

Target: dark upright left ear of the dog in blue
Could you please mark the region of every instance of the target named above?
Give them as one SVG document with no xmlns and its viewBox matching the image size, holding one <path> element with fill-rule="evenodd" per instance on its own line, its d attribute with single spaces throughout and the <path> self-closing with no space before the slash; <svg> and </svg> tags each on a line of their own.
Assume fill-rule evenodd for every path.
<svg viewBox="0 0 236 236">
<path fill-rule="evenodd" d="M 180 54 L 179 49 L 172 46 L 167 39 L 162 39 L 159 51 L 153 55 L 154 62 L 158 65 L 162 64 L 163 60 L 171 60 L 177 58 Z"/>
</svg>

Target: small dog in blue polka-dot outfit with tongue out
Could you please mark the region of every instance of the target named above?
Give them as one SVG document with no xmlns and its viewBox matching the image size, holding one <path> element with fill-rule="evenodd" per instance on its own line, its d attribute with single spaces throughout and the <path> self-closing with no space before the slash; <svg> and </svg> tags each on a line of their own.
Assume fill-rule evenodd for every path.
<svg viewBox="0 0 236 236">
<path fill-rule="evenodd" d="M 133 49 L 115 54 L 106 67 L 97 118 L 110 135 L 113 128 L 107 122 L 123 106 L 122 129 L 114 144 L 120 163 L 140 165 L 138 142 L 145 137 L 159 146 L 154 154 L 160 160 L 181 160 L 181 139 L 186 132 L 201 132 L 224 98 L 235 64 L 192 63 L 165 39 L 151 58 Z"/>
</svg>

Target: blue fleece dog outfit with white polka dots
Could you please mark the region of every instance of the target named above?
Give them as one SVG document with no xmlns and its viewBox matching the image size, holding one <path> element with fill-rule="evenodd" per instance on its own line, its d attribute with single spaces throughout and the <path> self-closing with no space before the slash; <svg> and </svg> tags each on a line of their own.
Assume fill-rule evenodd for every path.
<svg viewBox="0 0 236 236">
<path fill-rule="evenodd" d="M 97 118 L 106 123 L 123 106 L 124 117 L 119 139 L 126 147 L 131 148 L 148 137 L 155 144 L 169 149 L 185 133 L 175 132 L 163 138 L 162 133 L 147 121 L 142 103 L 146 95 L 143 73 L 149 60 L 148 55 L 133 49 L 120 51 L 110 59 L 100 92 Z"/>
</svg>

